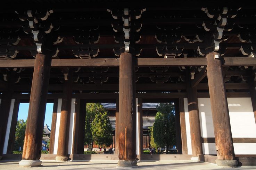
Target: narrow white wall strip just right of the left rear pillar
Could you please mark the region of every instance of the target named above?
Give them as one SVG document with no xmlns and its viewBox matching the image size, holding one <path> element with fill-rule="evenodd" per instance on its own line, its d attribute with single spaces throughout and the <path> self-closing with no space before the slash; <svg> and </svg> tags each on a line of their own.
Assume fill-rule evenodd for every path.
<svg viewBox="0 0 256 170">
<path fill-rule="evenodd" d="M 70 122 L 69 122 L 69 135 L 68 135 L 68 154 L 71 154 L 73 151 L 73 134 L 74 134 L 74 121 L 75 121 L 75 104 L 76 99 L 72 98 L 71 100 L 71 111 L 70 111 Z"/>
</svg>

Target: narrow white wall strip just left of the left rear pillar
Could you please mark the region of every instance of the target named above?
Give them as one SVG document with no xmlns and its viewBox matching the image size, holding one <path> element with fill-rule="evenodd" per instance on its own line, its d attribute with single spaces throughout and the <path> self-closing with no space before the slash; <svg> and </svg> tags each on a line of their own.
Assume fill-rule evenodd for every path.
<svg viewBox="0 0 256 170">
<path fill-rule="evenodd" d="M 53 154 L 57 154 L 57 152 L 58 152 L 61 103 L 62 103 L 62 99 L 59 98 L 58 99 L 58 108 L 57 108 L 57 118 L 56 118 L 56 129 L 55 129 L 55 141 L 54 141 Z"/>
</svg>

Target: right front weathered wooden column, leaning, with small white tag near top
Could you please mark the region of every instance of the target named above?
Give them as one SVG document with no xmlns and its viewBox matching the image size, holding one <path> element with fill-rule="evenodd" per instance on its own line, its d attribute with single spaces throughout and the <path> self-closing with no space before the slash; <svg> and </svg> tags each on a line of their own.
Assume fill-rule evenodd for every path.
<svg viewBox="0 0 256 170">
<path fill-rule="evenodd" d="M 218 59 L 218 53 L 208 53 L 206 57 L 208 62 L 207 78 L 217 150 L 216 163 L 220 166 L 237 166 L 238 162 L 235 160 L 230 127 L 228 101 L 222 75 L 222 62 Z"/>
</svg>

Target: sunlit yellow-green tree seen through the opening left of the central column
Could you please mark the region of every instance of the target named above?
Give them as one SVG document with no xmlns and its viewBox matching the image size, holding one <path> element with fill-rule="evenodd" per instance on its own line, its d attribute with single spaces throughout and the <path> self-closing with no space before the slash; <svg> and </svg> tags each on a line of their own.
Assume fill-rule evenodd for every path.
<svg viewBox="0 0 256 170">
<path fill-rule="evenodd" d="M 100 103 L 86 105 L 85 144 L 92 151 L 93 141 L 98 145 L 110 146 L 112 128 L 108 119 L 108 112 Z"/>
</svg>

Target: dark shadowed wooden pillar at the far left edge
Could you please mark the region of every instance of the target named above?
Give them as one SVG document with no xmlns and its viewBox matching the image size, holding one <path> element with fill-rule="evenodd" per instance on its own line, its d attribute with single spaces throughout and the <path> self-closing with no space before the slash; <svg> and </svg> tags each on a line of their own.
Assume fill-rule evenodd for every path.
<svg viewBox="0 0 256 170">
<path fill-rule="evenodd" d="M 11 106 L 11 97 L 13 94 L 13 78 L 14 78 L 14 72 L 11 72 L 9 74 L 8 79 L 8 88 L 3 91 L 2 99 L 1 99 L 1 105 L 0 105 L 0 159 L 2 159 L 3 154 L 3 145 L 5 143 L 5 136 L 6 136 L 6 129 L 7 129 L 7 122 L 10 112 L 10 106 Z"/>
</svg>

